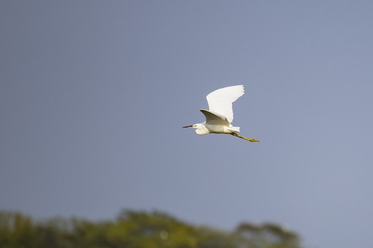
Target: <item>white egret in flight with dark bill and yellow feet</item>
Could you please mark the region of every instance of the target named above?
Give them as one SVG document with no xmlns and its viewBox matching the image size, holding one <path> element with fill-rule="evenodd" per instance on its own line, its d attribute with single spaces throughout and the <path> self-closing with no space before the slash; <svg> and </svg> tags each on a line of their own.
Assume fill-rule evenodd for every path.
<svg viewBox="0 0 373 248">
<path fill-rule="evenodd" d="M 209 110 L 200 110 L 206 116 L 206 121 L 186 127 L 195 128 L 195 132 L 200 135 L 211 133 L 231 134 L 247 141 L 258 142 L 254 138 L 245 138 L 238 135 L 240 127 L 233 127 L 231 125 L 233 121 L 232 103 L 244 93 L 243 85 L 223 87 L 211 92 L 206 96 L 207 103 L 209 103 Z"/>
</svg>

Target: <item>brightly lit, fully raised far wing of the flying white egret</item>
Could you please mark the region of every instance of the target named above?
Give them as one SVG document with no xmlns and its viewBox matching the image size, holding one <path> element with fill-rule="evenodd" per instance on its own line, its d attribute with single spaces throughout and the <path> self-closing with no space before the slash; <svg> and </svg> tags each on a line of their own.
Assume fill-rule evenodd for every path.
<svg viewBox="0 0 373 248">
<path fill-rule="evenodd" d="M 206 96 L 209 110 L 233 121 L 232 103 L 245 93 L 243 85 L 224 87 Z"/>
</svg>

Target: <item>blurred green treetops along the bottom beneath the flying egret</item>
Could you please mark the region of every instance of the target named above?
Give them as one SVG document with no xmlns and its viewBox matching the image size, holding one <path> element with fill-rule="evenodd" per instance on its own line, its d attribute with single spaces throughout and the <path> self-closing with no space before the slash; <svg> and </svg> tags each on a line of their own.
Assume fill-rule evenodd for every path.
<svg viewBox="0 0 373 248">
<path fill-rule="evenodd" d="M 236 231 L 196 227 L 167 214 L 122 211 L 113 221 L 79 218 L 34 221 L 0 212 L 4 248 L 300 248 L 298 236 L 278 225 L 242 223 Z"/>
</svg>

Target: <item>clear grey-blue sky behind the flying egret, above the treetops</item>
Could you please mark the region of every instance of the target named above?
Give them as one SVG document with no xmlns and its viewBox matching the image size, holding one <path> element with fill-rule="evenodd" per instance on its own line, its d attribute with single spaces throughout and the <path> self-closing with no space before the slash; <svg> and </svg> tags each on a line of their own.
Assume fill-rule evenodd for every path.
<svg viewBox="0 0 373 248">
<path fill-rule="evenodd" d="M 1 1 L 0 209 L 158 209 L 372 247 L 373 1 Z M 182 129 L 245 85 L 250 143 Z"/>
</svg>

